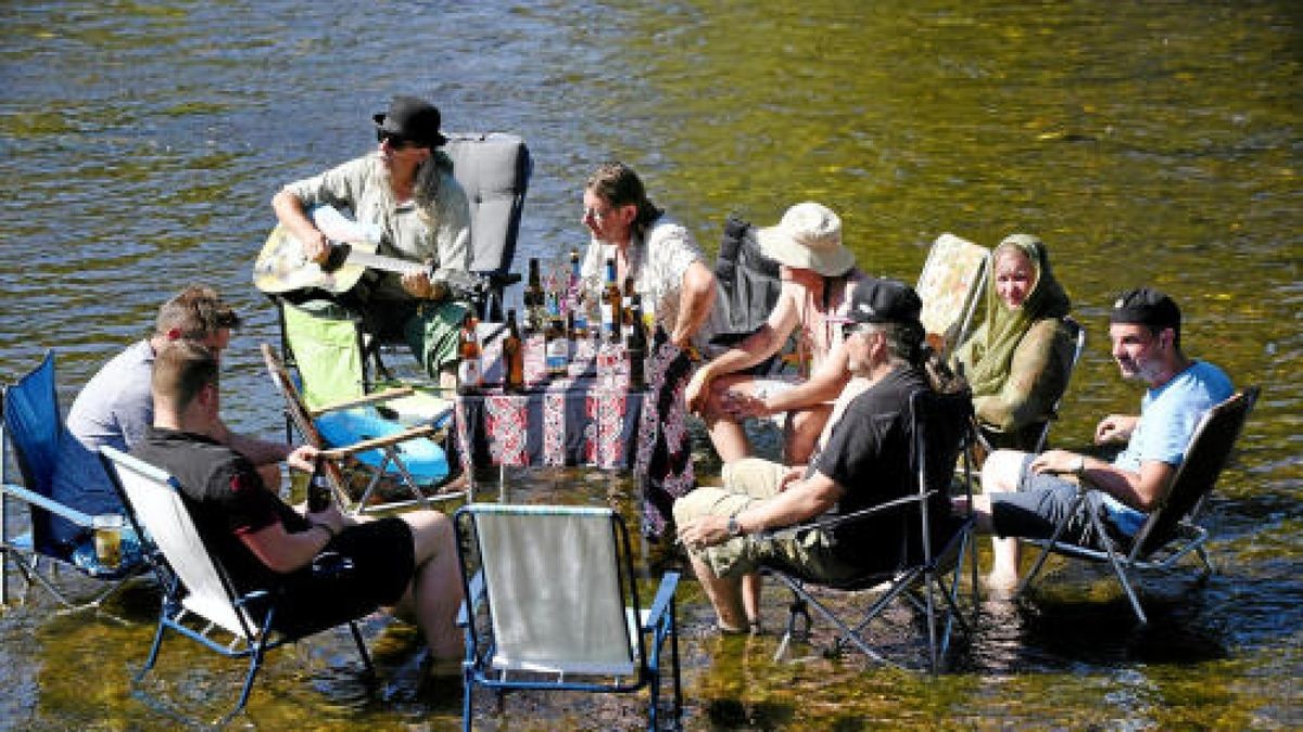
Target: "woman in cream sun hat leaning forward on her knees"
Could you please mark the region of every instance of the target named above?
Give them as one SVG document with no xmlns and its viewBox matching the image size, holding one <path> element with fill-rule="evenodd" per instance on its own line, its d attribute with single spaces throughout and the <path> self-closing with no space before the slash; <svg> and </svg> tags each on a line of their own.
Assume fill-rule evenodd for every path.
<svg viewBox="0 0 1303 732">
<path fill-rule="evenodd" d="M 820 203 L 797 203 L 756 233 L 761 251 L 779 263 L 782 290 L 754 333 L 704 365 L 688 384 L 688 408 L 706 422 L 724 462 L 751 455 L 743 421 L 786 413 L 786 462 L 801 465 L 827 422 L 831 401 L 850 380 L 840 330 L 831 318 L 863 275 L 842 244 L 842 220 Z M 795 333 L 800 374 L 762 378 L 744 373 L 777 353 Z"/>
</svg>

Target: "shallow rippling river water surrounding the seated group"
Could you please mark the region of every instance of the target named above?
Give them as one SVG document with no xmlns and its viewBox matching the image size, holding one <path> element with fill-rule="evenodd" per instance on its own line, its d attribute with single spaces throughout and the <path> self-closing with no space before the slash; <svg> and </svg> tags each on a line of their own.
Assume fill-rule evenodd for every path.
<svg viewBox="0 0 1303 732">
<path fill-rule="evenodd" d="M 989 246 L 1033 232 L 1089 330 L 1059 443 L 1135 410 L 1104 320 L 1127 287 L 1170 292 L 1186 350 L 1263 384 L 1210 504 L 1221 572 L 1157 582 L 1148 628 L 1089 576 L 993 603 L 939 679 L 774 666 L 773 637 L 713 636 L 689 585 L 687 725 L 1299 727 L 1300 20 L 1287 0 L 9 3 L 0 374 L 57 348 L 66 406 L 199 280 L 248 318 L 224 362 L 228 421 L 275 434 L 255 348 L 275 319 L 249 284 L 268 201 L 369 150 L 370 115 L 394 94 L 434 100 L 446 129 L 528 139 L 521 257 L 584 242 L 580 188 L 611 158 L 711 253 L 728 212 L 766 224 L 804 199 L 842 214 L 864 268 L 911 281 L 942 232 Z M 51 619 L 40 600 L 5 610 L 0 727 L 172 727 L 128 696 L 152 602 L 116 603 L 125 624 Z M 777 623 L 777 593 L 771 604 Z M 401 677 L 412 634 L 374 636 L 387 688 L 356 683 L 345 645 L 308 646 L 274 658 L 238 724 L 455 725 L 455 688 Z M 168 649 L 181 662 L 162 696 L 219 709 L 229 666 Z M 610 728 L 636 725 L 638 705 L 513 697 L 481 711 L 508 728 Z"/>
</svg>

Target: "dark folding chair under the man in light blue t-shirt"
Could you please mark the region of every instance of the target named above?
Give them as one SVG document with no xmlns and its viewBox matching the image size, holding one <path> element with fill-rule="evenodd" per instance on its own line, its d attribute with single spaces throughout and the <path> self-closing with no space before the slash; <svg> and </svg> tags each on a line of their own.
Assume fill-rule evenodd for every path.
<svg viewBox="0 0 1303 732">
<path fill-rule="evenodd" d="M 1148 623 L 1148 617 L 1132 586 L 1139 582 L 1139 573 L 1170 572 L 1188 554 L 1195 554 L 1203 564 L 1201 577 L 1213 573 L 1213 563 L 1204 546 L 1208 542 L 1208 529 L 1197 524 L 1199 514 L 1230 460 L 1231 448 L 1244 429 L 1244 421 L 1253 409 L 1257 395 L 1259 387 L 1251 387 L 1204 414 L 1190 438 L 1186 458 L 1177 469 L 1167 487 L 1167 495 L 1131 538 L 1130 547 L 1119 546 L 1105 531 L 1100 520 L 1100 494 L 1083 483 L 1072 509 L 1054 528 L 1049 539 L 1020 539 L 1041 547 L 1041 552 L 1031 572 L 1019 584 L 1016 594 L 1022 595 L 1032 586 L 1050 552 L 1095 564 L 1108 563 L 1131 602 L 1136 620 L 1144 624 Z M 1101 537 L 1102 551 L 1059 541 L 1070 521 L 1081 511 L 1085 512 L 1085 520 L 1091 522 L 1096 537 Z"/>
</svg>

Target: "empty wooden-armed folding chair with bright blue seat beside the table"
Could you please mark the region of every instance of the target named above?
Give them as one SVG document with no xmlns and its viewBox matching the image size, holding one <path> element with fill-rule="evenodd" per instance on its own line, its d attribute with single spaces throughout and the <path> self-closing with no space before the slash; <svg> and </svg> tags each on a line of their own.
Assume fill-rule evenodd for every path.
<svg viewBox="0 0 1303 732">
<path fill-rule="evenodd" d="M 444 427 L 452 415 L 451 404 L 429 397 L 423 402 L 431 406 L 412 425 L 405 425 L 392 408 L 401 401 L 421 399 L 410 387 L 360 395 L 339 404 L 309 409 L 272 348 L 267 344 L 261 348 L 267 373 L 285 400 L 287 419 L 308 444 L 324 451 L 322 457 L 328 465 L 327 478 L 335 488 L 339 505 L 352 513 L 414 504 L 425 508 L 434 498 L 463 495 L 457 491 L 438 491 L 448 477 L 448 460 L 435 439 L 446 432 Z M 344 458 L 349 457 L 369 474 L 366 487 L 357 500 L 347 490 L 352 472 L 341 466 Z M 384 481 L 396 482 L 412 498 L 373 503 L 371 498 Z"/>
</svg>

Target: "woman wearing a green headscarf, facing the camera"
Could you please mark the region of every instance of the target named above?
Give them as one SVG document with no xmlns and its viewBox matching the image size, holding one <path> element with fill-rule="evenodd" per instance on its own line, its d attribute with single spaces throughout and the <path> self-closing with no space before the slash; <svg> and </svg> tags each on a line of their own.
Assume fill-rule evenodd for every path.
<svg viewBox="0 0 1303 732">
<path fill-rule="evenodd" d="M 1067 388 L 1071 301 L 1040 238 L 1011 234 L 992 254 L 986 319 L 960 346 L 973 410 L 992 447 L 1031 449 Z"/>
</svg>

